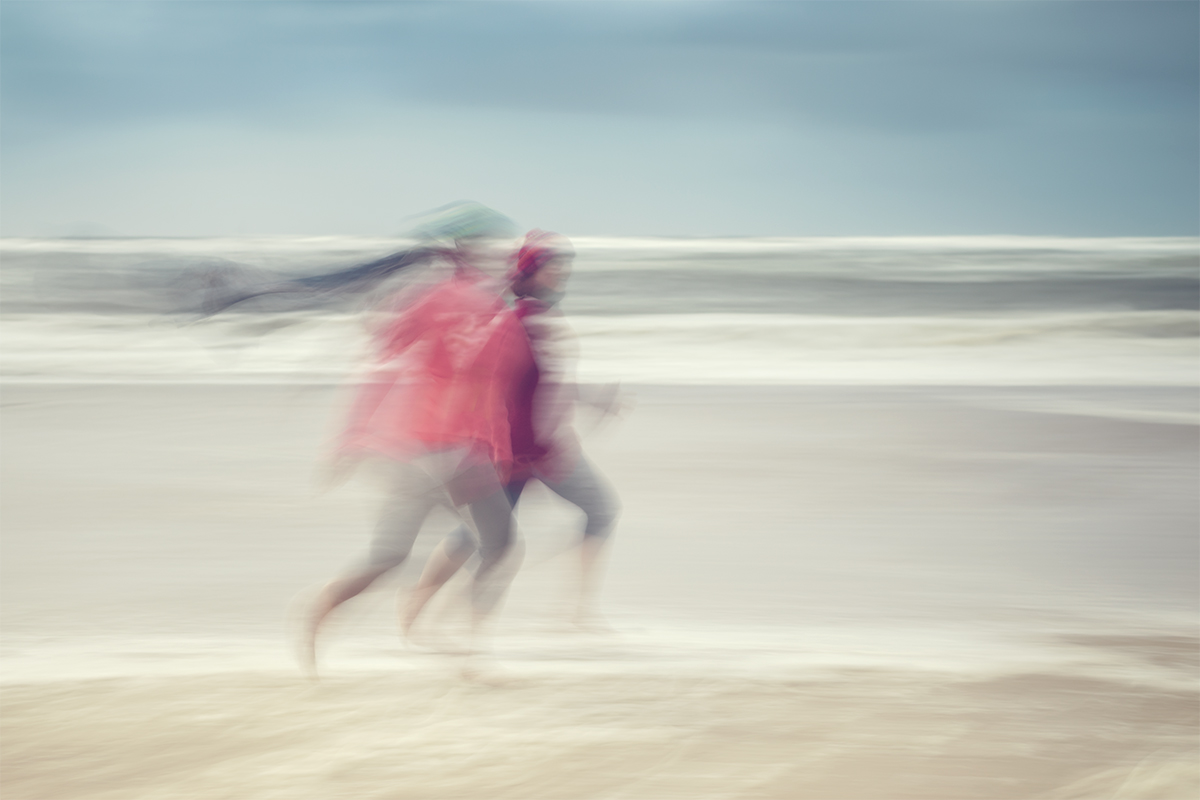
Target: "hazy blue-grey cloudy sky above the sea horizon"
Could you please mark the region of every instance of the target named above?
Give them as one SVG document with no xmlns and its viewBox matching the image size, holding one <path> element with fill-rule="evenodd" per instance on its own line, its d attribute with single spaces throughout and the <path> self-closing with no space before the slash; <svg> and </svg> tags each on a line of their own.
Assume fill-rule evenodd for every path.
<svg viewBox="0 0 1200 800">
<path fill-rule="evenodd" d="M 1194 235 L 1189 1 L 4 0 L 5 235 Z"/>
</svg>

